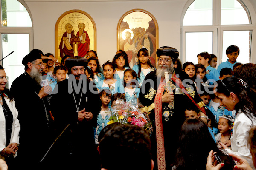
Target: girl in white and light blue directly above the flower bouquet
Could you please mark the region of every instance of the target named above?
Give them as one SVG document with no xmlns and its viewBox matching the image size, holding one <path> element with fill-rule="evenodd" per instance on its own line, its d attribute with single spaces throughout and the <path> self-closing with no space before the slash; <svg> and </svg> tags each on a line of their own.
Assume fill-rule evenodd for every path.
<svg viewBox="0 0 256 170">
<path fill-rule="evenodd" d="M 126 102 L 131 102 L 131 104 L 136 105 L 138 103 L 140 88 L 137 80 L 137 74 L 131 68 L 125 70 L 124 87 Z"/>
</svg>

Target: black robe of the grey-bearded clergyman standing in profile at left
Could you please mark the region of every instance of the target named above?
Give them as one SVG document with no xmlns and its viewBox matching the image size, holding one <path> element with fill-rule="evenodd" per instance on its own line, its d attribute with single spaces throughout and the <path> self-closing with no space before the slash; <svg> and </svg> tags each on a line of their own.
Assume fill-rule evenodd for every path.
<svg viewBox="0 0 256 170">
<path fill-rule="evenodd" d="M 17 153 L 18 166 L 22 169 L 39 168 L 39 162 L 51 141 L 49 129 L 49 104 L 37 95 L 41 87 L 25 71 L 11 86 L 20 121 L 20 145 Z M 29 163 L 28 163 L 29 162 Z"/>
</svg>

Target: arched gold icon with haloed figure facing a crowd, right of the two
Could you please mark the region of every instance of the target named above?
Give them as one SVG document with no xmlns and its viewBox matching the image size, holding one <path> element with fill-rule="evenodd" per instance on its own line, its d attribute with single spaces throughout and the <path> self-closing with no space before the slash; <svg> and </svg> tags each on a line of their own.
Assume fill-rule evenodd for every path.
<svg viewBox="0 0 256 170">
<path fill-rule="evenodd" d="M 140 48 L 148 50 L 151 64 L 156 66 L 158 24 L 152 14 L 143 9 L 126 12 L 119 20 L 117 34 L 117 50 L 126 52 L 130 67 L 138 63 Z"/>
</svg>

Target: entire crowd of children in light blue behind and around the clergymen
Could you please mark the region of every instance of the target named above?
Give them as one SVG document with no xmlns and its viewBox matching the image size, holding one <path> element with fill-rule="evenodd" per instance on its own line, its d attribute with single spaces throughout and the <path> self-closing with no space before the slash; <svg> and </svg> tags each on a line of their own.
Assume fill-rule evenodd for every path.
<svg viewBox="0 0 256 170">
<path fill-rule="evenodd" d="M 231 45 L 228 47 L 226 54 L 227 61 L 221 63 L 217 69 L 217 57 L 207 52 L 197 55 L 198 63 L 185 62 L 182 65 L 180 59 L 176 59 L 173 65 L 175 69 L 185 71 L 195 83 L 196 90 L 205 105 L 208 130 L 217 144 L 217 141 L 224 143 L 230 140 L 232 124 L 235 118 L 235 112 L 228 111 L 223 106 L 220 106 L 220 99 L 214 94 L 215 82 L 219 82 L 226 77 L 233 77 L 233 66 L 239 65 L 236 61 L 239 55 L 237 46 Z M 44 72 L 52 89 L 59 81 L 68 78 L 65 67 L 65 60 L 68 57 L 64 56 L 60 66 L 53 66 L 52 62 L 44 61 L 45 65 L 48 66 Z M 97 118 L 97 127 L 95 128 L 96 144 L 98 144 L 100 131 L 108 125 L 111 117 L 111 108 L 116 105 L 116 100 L 122 99 L 127 104 L 137 105 L 139 103 L 140 86 L 146 75 L 155 70 L 146 48 L 140 49 L 137 57 L 137 65 L 130 68 L 127 54 L 119 50 L 113 57 L 112 62 L 107 61 L 101 67 L 96 51 L 90 50 L 87 53 L 88 68 L 85 68 L 85 74 L 87 79 L 96 84 L 102 102 L 101 112 Z M 215 85 L 215 88 L 211 88 L 211 85 Z M 199 119 L 199 112 L 198 108 L 187 106 L 184 108 L 184 118 Z M 221 147 L 221 145 L 218 145 L 218 147 Z"/>
</svg>

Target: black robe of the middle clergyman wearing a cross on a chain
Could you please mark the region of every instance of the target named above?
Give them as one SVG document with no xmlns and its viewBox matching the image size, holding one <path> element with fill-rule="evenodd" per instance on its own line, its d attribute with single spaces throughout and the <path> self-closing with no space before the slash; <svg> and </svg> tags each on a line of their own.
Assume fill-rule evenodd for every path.
<svg viewBox="0 0 256 170">
<path fill-rule="evenodd" d="M 78 81 L 74 83 L 78 83 Z M 93 90 L 96 91 L 96 93 L 93 93 L 90 91 L 89 83 L 90 81 L 88 80 L 83 81 L 79 93 L 76 93 L 73 83 L 71 83 L 70 79 L 66 79 L 58 82 L 58 89 L 55 88 L 52 94 L 51 110 L 55 118 L 57 136 L 70 124 L 55 143 L 55 153 L 52 153 L 56 155 L 56 157 L 53 158 L 57 159 L 55 163 L 57 165 L 57 162 L 60 163 L 58 168 L 71 167 L 76 170 L 94 170 L 99 167 L 99 165 L 96 164 L 96 159 L 98 158 L 96 158 L 97 151 L 93 127 L 96 126 L 96 119 L 101 110 L 102 103 L 96 85 L 91 82 L 95 85 Z M 68 89 L 71 87 L 73 88 L 73 93 L 68 92 Z M 85 90 L 86 93 L 82 93 L 82 90 Z M 79 106 L 79 111 L 85 108 L 86 112 L 93 113 L 93 119 L 90 121 L 84 119 L 79 122 L 76 106 Z M 63 162 L 65 162 L 65 164 L 63 164 Z"/>
</svg>

